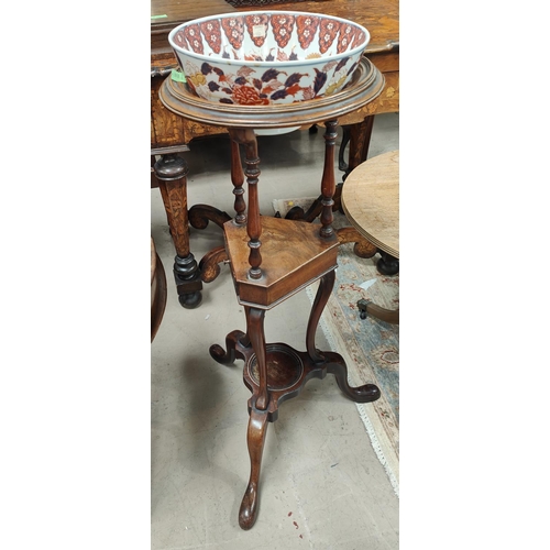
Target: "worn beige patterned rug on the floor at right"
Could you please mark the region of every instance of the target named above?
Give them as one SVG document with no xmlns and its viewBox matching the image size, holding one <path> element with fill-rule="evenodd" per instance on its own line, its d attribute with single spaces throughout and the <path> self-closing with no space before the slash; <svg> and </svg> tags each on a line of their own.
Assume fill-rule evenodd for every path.
<svg viewBox="0 0 550 550">
<path fill-rule="evenodd" d="M 300 206 L 305 211 L 314 198 L 273 201 L 275 212 Z M 334 212 L 334 228 L 349 227 L 344 215 Z M 399 495 L 399 327 L 372 317 L 361 319 L 356 307 L 361 298 L 395 309 L 399 306 L 399 277 L 381 275 L 376 270 L 378 254 L 360 258 L 353 244 L 342 244 L 334 289 L 324 308 L 321 328 L 332 351 L 348 364 L 352 385 L 376 384 L 382 397 L 367 404 L 355 404 L 372 446 L 397 496 Z M 317 285 L 307 289 L 314 300 Z"/>
</svg>

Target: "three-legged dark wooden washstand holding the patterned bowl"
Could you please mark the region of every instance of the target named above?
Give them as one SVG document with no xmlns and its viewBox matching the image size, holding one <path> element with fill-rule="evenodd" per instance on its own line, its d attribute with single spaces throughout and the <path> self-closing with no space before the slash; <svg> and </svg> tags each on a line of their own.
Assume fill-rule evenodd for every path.
<svg viewBox="0 0 550 550">
<path fill-rule="evenodd" d="M 235 217 L 223 223 L 226 246 L 220 254 L 230 262 L 238 301 L 245 311 L 246 331 L 233 330 L 226 338 L 226 349 L 215 344 L 210 354 L 222 364 L 243 360 L 244 384 L 252 392 L 248 427 L 251 473 L 239 512 L 239 525 L 243 529 L 250 529 L 257 517 L 260 469 L 267 422 L 276 420 L 280 403 L 297 396 L 310 378 L 323 378 L 327 373 L 336 376 L 344 395 L 354 402 L 370 403 L 381 395 L 374 384 L 350 387 L 344 360 L 338 353 L 319 351 L 315 334 L 332 292 L 338 258 L 339 238 L 332 228 L 337 119 L 374 101 L 383 88 L 383 76 L 363 58 L 345 90 L 290 106 L 251 109 L 208 102 L 191 96 L 184 85 L 172 79 L 167 79 L 160 89 L 161 100 L 172 112 L 197 122 L 216 120 L 227 128 L 232 143 L 230 174 L 238 191 Z M 254 130 L 318 122 L 323 122 L 326 127 L 320 223 L 261 217 L 260 158 Z M 241 147 L 245 152 L 244 170 Z M 240 193 L 244 178 L 248 184 L 248 211 Z M 266 311 L 316 282 L 319 282 L 319 287 L 307 326 L 306 351 L 295 350 L 285 343 L 266 343 Z"/>
</svg>

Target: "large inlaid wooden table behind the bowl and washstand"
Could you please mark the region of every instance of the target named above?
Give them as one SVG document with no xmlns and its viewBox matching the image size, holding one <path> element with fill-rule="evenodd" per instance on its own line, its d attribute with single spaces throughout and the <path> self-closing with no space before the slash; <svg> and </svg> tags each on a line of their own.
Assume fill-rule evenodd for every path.
<svg viewBox="0 0 550 550">
<path fill-rule="evenodd" d="M 184 307 L 194 308 L 201 301 L 202 283 L 216 278 L 215 257 L 197 262 L 189 246 L 188 223 L 197 229 L 205 228 L 209 221 L 222 227 L 229 219 L 226 212 L 213 207 L 187 206 L 187 172 L 177 154 L 189 151 L 189 143 L 200 136 L 226 133 L 227 128 L 216 125 L 213 120 L 193 120 L 178 117 L 165 109 L 158 97 L 158 89 L 177 62 L 168 44 L 168 33 L 179 23 L 211 15 L 249 11 L 253 8 L 231 7 L 224 0 L 201 0 L 200 2 L 180 2 L 176 0 L 152 0 L 151 14 L 166 15 L 151 20 L 151 154 L 153 158 L 151 184 L 160 187 L 170 233 L 176 249 L 174 277 L 179 301 Z M 329 15 L 352 19 L 363 24 L 371 33 L 371 41 L 365 55 L 374 63 L 385 78 L 384 89 L 371 103 L 339 119 L 345 129 L 344 140 L 349 140 L 346 173 L 366 158 L 373 128 L 373 117 L 378 113 L 396 112 L 399 109 L 399 20 L 398 0 L 330 0 L 285 2 L 270 6 L 273 10 L 293 10 L 322 12 Z M 304 129 L 310 129 L 307 123 Z M 162 155 L 157 170 L 153 167 L 153 155 Z M 238 191 L 239 189 L 235 188 Z M 334 208 L 340 208 L 341 186 L 337 187 Z M 311 221 L 322 209 L 322 200 L 316 201 L 308 212 L 293 212 L 295 219 Z M 340 237 L 340 235 L 339 235 Z M 356 240 L 352 235 L 352 239 Z M 220 254 L 215 252 L 213 254 Z"/>
</svg>

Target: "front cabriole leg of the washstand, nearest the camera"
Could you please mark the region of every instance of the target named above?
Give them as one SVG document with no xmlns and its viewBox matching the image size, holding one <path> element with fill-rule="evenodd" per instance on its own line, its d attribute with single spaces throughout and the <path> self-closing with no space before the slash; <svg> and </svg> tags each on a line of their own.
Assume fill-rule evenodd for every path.
<svg viewBox="0 0 550 550">
<path fill-rule="evenodd" d="M 239 525 L 242 529 L 250 529 L 257 517 L 258 481 L 262 454 L 264 451 L 265 435 L 267 433 L 267 410 L 251 408 L 246 442 L 250 454 L 250 479 L 239 509 Z"/>
</svg>

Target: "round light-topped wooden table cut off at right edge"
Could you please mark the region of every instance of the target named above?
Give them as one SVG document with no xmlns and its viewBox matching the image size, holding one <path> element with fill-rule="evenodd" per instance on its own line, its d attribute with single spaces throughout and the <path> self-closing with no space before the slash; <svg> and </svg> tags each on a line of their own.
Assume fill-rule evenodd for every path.
<svg viewBox="0 0 550 550">
<path fill-rule="evenodd" d="M 381 254 L 378 271 L 398 271 L 399 261 L 399 152 L 392 151 L 360 164 L 345 180 L 342 207 L 348 220 Z M 397 264 L 397 267 L 395 267 Z M 399 310 L 366 300 L 358 307 L 386 322 L 398 323 Z"/>
</svg>

